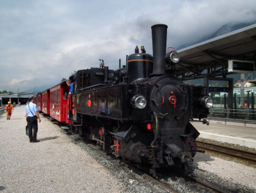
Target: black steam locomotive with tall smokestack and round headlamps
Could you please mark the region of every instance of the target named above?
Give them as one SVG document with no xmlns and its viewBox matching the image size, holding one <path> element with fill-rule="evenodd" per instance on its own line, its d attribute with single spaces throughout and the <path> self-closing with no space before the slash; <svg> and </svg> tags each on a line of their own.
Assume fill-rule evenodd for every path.
<svg viewBox="0 0 256 193">
<path fill-rule="evenodd" d="M 68 104 L 72 129 L 97 141 L 103 150 L 152 170 L 193 164 L 199 132 L 193 118 L 206 118 L 212 100 L 204 86 L 175 77 L 179 54 L 166 54 L 167 26 L 152 26 L 153 57 L 144 47 L 127 65 L 109 70 L 78 70 Z"/>
</svg>

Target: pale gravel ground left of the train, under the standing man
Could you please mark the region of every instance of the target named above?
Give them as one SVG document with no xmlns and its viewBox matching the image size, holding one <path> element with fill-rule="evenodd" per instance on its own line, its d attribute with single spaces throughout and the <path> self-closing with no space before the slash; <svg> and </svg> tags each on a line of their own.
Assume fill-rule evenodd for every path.
<svg viewBox="0 0 256 193">
<path fill-rule="evenodd" d="M 120 192 L 122 181 L 44 116 L 38 123 L 40 143 L 29 143 L 25 114 L 22 105 L 11 120 L 0 118 L 2 192 Z"/>
</svg>

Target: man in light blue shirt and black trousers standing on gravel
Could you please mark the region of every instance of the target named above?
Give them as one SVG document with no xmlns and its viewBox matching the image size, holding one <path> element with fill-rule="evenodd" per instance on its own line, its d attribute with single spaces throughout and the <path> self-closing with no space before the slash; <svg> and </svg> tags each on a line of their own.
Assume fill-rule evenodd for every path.
<svg viewBox="0 0 256 193">
<path fill-rule="evenodd" d="M 36 139 L 37 131 L 38 131 L 38 124 L 37 120 L 41 122 L 40 116 L 38 113 L 38 109 L 36 104 L 34 104 L 34 98 L 31 97 L 28 99 L 29 104 L 26 105 L 26 117 L 28 122 L 28 136 L 30 143 L 37 143 L 40 142 Z"/>
</svg>

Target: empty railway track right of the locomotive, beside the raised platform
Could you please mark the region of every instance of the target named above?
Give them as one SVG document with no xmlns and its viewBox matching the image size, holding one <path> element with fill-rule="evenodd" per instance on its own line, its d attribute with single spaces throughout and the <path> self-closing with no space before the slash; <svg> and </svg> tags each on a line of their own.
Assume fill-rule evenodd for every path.
<svg viewBox="0 0 256 193">
<path fill-rule="evenodd" d="M 235 157 L 240 160 L 245 160 L 250 162 L 250 164 L 256 165 L 256 153 L 249 151 L 237 150 L 235 148 L 228 148 L 218 144 L 204 143 L 202 141 L 196 141 L 197 147 L 200 150 L 212 151 L 214 153 L 221 153 L 222 155 L 228 155 L 230 157 Z"/>
</svg>

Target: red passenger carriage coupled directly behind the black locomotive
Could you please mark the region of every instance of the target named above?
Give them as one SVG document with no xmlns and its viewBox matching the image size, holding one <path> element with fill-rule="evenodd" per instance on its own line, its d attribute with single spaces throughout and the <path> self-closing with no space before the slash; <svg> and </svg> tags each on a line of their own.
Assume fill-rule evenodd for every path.
<svg viewBox="0 0 256 193">
<path fill-rule="evenodd" d="M 68 86 L 66 82 L 61 82 L 50 89 L 50 116 L 60 122 L 69 123 L 67 104 Z"/>
</svg>

